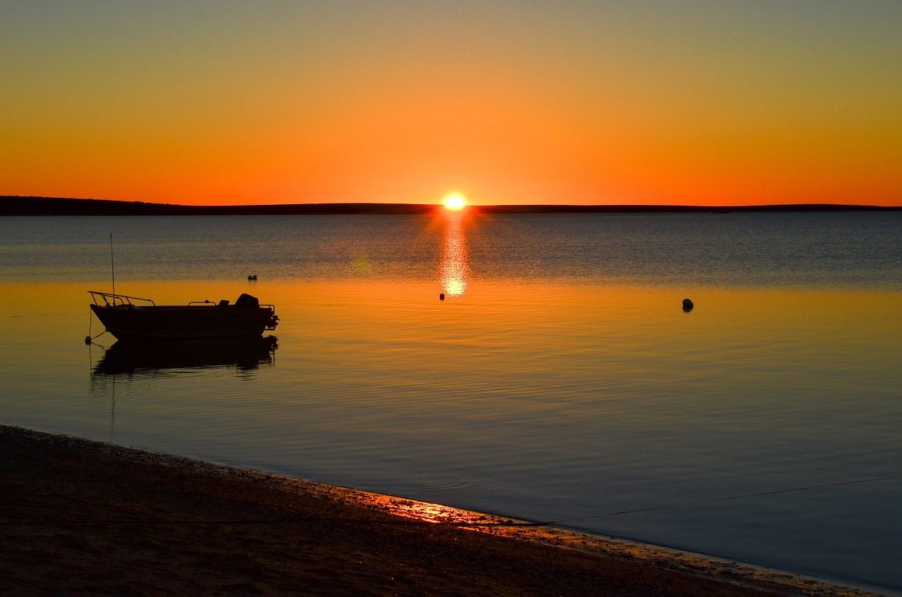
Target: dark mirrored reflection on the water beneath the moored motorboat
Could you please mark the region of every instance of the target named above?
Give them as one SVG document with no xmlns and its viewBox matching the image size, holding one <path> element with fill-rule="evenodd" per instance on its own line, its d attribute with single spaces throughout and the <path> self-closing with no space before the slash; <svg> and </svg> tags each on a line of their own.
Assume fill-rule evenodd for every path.
<svg viewBox="0 0 902 597">
<path fill-rule="evenodd" d="M 159 374 L 176 370 L 235 368 L 246 372 L 275 364 L 278 338 L 220 338 L 164 343 L 123 340 L 106 349 L 93 375 Z"/>
</svg>

